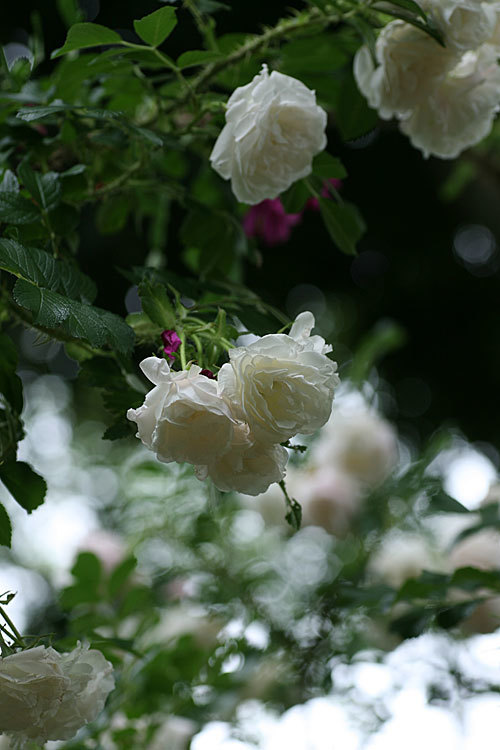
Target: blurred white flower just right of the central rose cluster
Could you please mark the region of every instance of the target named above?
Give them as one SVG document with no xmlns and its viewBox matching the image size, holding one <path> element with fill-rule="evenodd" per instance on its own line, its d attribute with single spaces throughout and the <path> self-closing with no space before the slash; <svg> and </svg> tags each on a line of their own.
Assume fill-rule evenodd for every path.
<svg viewBox="0 0 500 750">
<path fill-rule="evenodd" d="M 392 425 L 358 394 L 340 399 L 311 448 L 311 462 L 337 467 L 368 487 L 375 487 L 394 469 L 398 459 Z"/>
</svg>

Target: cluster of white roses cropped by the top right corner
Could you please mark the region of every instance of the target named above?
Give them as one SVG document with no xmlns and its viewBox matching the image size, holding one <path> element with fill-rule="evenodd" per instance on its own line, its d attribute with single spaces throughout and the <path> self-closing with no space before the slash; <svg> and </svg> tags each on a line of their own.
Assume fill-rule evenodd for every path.
<svg viewBox="0 0 500 750">
<path fill-rule="evenodd" d="M 358 50 L 354 75 L 380 116 L 396 117 L 425 156 L 453 159 L 491 130 L 500 109 L 500 3 L 422 0 L 445 46 L 403 21 L 380 33 L 376 63 Z"/>
</svg>

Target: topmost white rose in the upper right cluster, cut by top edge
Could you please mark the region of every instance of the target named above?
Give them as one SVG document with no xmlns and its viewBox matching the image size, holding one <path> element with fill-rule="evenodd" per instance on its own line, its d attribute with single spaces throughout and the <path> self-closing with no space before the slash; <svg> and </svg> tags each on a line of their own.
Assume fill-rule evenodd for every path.
<svg viewBox="0 0 500 750">
<path fill-rule="evenodd" d="M 423 10 L 445 36 L 446 46 L 465 52 L 490 41 L 500 3 L 478 0 L 424 0 Z"/>
</svg>

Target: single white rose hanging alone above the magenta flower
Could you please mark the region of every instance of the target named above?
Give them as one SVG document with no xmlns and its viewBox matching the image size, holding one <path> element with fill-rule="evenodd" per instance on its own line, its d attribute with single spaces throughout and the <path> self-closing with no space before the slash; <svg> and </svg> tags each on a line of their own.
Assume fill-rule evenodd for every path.
<svg viewBox="0 0 500 750">
<path fill-rule="evenodd" d="M 326 146 L 326 119 L 314 91 L 264 65 L 229 98 L 210 161 L 242 203 L 276 198 L 311 173 Z"/>
</svg>

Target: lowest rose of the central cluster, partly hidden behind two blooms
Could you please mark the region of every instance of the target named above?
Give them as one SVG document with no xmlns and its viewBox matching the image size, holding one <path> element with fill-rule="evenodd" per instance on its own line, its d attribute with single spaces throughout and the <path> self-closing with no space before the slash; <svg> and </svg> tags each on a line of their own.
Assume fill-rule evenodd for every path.
<svg viewBox="0 0 500 750">
<path fill-rule="evenodd" d="M 209 466 L 197 467 L 196 475 L 198 479 L 209 476 L 222 492 L 260 495 L 270 484 L 283 479 L 287 460 L 285 448 L 256 442 L 248 425 L 240 424 L 229 450 Z"/>
</svg>

